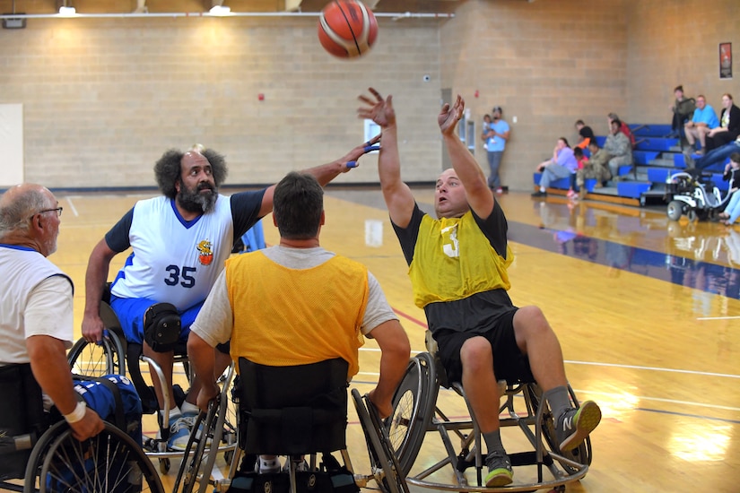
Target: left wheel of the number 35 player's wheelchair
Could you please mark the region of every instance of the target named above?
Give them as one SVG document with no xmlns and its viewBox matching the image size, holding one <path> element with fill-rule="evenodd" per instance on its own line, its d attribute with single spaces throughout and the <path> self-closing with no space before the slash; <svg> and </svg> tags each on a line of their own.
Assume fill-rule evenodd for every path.
<svg viewBox="0 0 740 493">
<path fill-rule="evenodd" d="M 75 342 L 67 354 L 67 361 L 74 375 L 126 375 L 123 344 L 116 333 L 108 331 L 100 344 L 84 339 Z"/>
</svg>

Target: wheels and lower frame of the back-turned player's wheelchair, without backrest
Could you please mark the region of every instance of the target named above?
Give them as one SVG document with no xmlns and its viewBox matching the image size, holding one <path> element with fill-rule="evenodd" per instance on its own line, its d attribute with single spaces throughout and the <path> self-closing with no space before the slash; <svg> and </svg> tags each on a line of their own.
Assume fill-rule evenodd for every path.
<svg viewBox="0 0 740 493">
<path fill-rule="evenodd" d="M 232 379 L 233 372 L 232 365 L 229 376 L 227 376 L 227 383 L 223 385 L 221 394 L 211 402 L 207 414 L 201 412 L 196 421 L 196 427 L 203 422 L 204 435 L 206 438 L 213 439 L 213 443 L 216 443 L 220 439 L 221 430 L 224 428 L 224 420 L 228 415 L 228 401 L 230 394 L 232 394 L 231 389 L 233 388 L 228 382 Z M 396 454 L 393 453 L 393 448 L 385 433 L 382 420 L 379 418 L 367 395 L 361 396 L 356 389 L 352 389 L 351 394 L 368 447 L 368 454 L 370 455 L 370 472 L 361 474 L 354 471 L 352 461 L 346 449 L 337 451 L 342 457 L 344 466 L 348 471 L 353 473 L 354 482 L 358 488 L 366 488 L 370 484 L 370 481 L 374 481 L 378 489 L 384 493 L 408 493 L 404 474 L 401 472 L 400 464 L 396 460 Z M 236 394 L 233 395 L 236 396 Z M 239 421 L 239 404 L 238 402 L 234 403 L 237 408 L 236 414 Z M 241 432 L 241 428 L 237 426 L 237 433 L 239 434 Z M 195 434 L 191 435 L 173 491 L 191 493 L 196 490 L 196 483 L 198 484 L 197 491 L 199 493 L 205 493 L 209 487 L 213 488 L 213 492 L 225 492 L 231 487 L 231 479 L 237 471 L 239 460 L 242 459 L 244 450 L 237 445 L 231 458 L 228 478 L 214 480 L 212 478 L 212 472 L 217 450 L 215 448 L 208 449 L 205 446 L 205 441 L 204 437 L 197 438 Z M 239 444 L 239 440 L 237 440 L 237 444 Z M 191 452 L 193 452 L 192 457 L 190 456 Z M 318 454 L 307 455 L 309 455 L 309 471 L 318 471 Z M 296 463 L 292 460 L 288 462 L 290 463 L 291 491 L 294 493 L 296 491 Z M 179 489 L 180 481 L 182 481 L 183 485 L 181 490 Z"/>
</svg>

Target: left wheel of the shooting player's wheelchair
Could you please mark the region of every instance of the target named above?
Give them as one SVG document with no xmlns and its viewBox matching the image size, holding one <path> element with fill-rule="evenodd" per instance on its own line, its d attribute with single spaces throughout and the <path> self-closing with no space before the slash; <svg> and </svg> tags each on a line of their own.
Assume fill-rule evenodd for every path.
<svg viewBox="0 0 740 493">
<path fill-rule="evenodd" d="M 409 361 L 393 396 L 393 413 L 384 422 L 404 476 L 411 471 L 422 448 L 438 392 L 434 361 L 431 354 L 422 352 Z"/>
</svg>

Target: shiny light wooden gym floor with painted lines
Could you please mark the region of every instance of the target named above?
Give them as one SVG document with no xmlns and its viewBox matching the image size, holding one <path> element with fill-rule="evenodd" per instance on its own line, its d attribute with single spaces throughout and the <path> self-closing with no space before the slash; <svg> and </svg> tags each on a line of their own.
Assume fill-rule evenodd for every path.
<svg viewBox="0 0 740 493">
<path fill-rule="evenodd" d="M 432 187 L 414 194 L 431 211 Z M 65 212 L 51 260 L 75 282 L 78 331 L 92 247 L 148 196 L 57 194 Z M 560 338 L 570 384 L 581 401 L 595 400 L 604 413 L 592 435 L 591 469 L 568 491 L 738 491 L 740 232 L 717 223 L 669 221 L 665 208 L 569 204 L 559 197 L 535 201 L 520 193 L 502 195 L 500 203 L 516 255 L 511 298 L 518 306 L 543 309 Z M 274 245 L 271 216 L 263 224 L 267 244 Z M 368 265 L 413 352 L 424 350 L 423 312 L 412 303 L 407 267 L 379 191 L 328 188 L 321 244 Z M 114 259 L 109 279 L 126 255 Z M 368 341 L 351 386 L 368 392 L 378 361 Z M 466 413 L 449 391 L 440 391 L 438 403 L 448 415 Z M 355 468 L 367 471 L 352 407 L 349 451 Z M 155 432 L 152 417 L 144 429 Z M 504 445 L 520 439 L 511 431 L 518 436 L 505 431 Z M 439 440 L 428 437 L 414 471 L 442 454 Z M 177 467 L 173 461 L 166 489 Z"/>
</svg>

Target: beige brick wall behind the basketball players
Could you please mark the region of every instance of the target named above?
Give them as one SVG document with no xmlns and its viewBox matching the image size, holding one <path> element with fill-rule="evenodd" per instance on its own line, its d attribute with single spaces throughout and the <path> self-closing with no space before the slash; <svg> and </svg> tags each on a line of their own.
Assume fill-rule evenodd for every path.
<svg viewBox="0 0 740 493">
<path fill-rule="evenodd" d="M 449 21 L 381 18 L 376 46 L 354 61 L 326 55 L 314 17 L 30 19 L 0 30 L 0 103 L 24 105 L 29 181 L 152 186 L 162 151 L 204 143 L 226 154 L 229 184 L 256 184 L 360 143 L 356 96 L 373 85 L 394 94 L 405 179 L 431 181 L 449 89 L 476 133 L 504 108 L 504 184 L 529 190 L 576 119 L 597 134 L 610 111 L 669 123 L 677 83 L 716 108 L 722 92 L 740 99 L 718 80 L 718 43 L 740 50 L 737 19 L 736 0 L 468 0 Z M 479 140 L 475 155 L 485 169 Z M 377 182 L 375 158 L 361 162 L 337 181 Z"/>
</svg>

